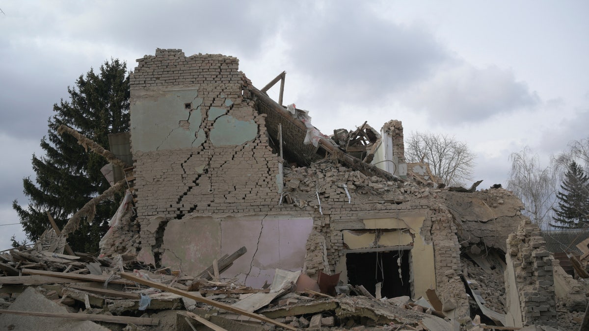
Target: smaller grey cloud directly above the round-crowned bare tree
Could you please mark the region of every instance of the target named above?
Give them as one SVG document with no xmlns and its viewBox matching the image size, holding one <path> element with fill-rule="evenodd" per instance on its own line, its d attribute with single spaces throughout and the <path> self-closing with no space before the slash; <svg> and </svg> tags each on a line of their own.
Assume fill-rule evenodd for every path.
<svg viewBox="0 0 589 331">
<path fill-rule="evenodd" d="M 476 123 L 521 108 L 540 98 L 513 72 L 498 67 L 478 69 L 463 63 L 444 69 L 401 96 L 403 103 L 429 115 L 433 123 Z"/>
</svg>

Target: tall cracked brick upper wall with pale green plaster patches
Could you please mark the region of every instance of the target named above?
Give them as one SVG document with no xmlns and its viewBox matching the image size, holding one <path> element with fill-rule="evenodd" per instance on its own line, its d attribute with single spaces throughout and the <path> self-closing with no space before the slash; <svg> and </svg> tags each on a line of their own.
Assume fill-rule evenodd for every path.
<svg viewBox="0 0 589 331">
<path fill-rule="evenodd" d="M 131 145 L 141 245 L 157 256 L 166 221 L 191 213 L 283 210 L 266 115 L 243 97 L 251 83 L 237 58 L 157 49 L 137 61 Z"/>
</svg>

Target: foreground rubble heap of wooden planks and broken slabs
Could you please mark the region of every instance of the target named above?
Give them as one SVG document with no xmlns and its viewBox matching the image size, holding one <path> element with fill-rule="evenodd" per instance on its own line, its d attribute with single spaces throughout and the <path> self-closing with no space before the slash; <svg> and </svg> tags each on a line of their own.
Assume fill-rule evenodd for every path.
<svg viewBox="0 0 589 331">
<path fill-rule="evenodd" d="M 321 280 L 317 283 L 300 272 L 277 269 L 272 284 L 253 289 L 237 283 L 236 279 L 219 279 L 219 273 L 230 265 L 223 260 L 193 277 L 169 268 L 154 270 L 143 266 L 133 254 L 105 259 L 81 253 L 63 254 L 64 247 L 62 236 L 46 234 L 32 247 L 0 254 L 3 273 L 0 306 L 4 308 L 0 310 L 0 327 L 9 330 L 39 329 L 41 325 L 55 330 L 72 327 L 192 330 L 203 325 L 216 330 L 454 328 L 444 313 L 434 309 L 427 300 L 415 303 L 409 297 L 377 300 L 361 286 L 335 286 L 335 283 L 320 288 L 325 285 Z M 239 257 L 239 253 L 243 251 L 233 255 Z M 39 319 L 39 316 L 51 318 Z"/>
</svg>

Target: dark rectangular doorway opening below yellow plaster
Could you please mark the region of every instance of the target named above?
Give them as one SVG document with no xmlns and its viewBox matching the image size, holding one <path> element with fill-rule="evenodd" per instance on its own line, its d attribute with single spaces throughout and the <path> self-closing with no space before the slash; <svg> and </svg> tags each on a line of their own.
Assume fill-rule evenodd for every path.
<svg viewBox="0 0 589 331">
<path fill-rule="evenodd" d="M 382 282 L 380 289 L 382 297 L 411 297 L 409 252 L 409 250 L 393 250 L 346 254 L 348 283 L 363 285 L 370 294 L 375 295 L 376 283 Z M 399 268 L 401 277 L 399 277 Z"/>
</svg>

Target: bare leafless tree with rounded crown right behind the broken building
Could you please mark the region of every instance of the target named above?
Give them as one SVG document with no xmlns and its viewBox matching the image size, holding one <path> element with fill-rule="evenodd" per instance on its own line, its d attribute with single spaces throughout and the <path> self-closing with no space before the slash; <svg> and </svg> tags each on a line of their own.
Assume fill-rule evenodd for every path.
<svg viewBox="0 0 589 331">
<path fill-rule="evenodd" d="M 450 186 L 472 180 L 475 154 L 466 143 L 444 134 L 412 133 L 405 143 L 409 163 L 426 162 L 434 175 Z"/>
</svg>

